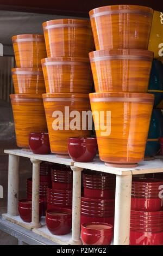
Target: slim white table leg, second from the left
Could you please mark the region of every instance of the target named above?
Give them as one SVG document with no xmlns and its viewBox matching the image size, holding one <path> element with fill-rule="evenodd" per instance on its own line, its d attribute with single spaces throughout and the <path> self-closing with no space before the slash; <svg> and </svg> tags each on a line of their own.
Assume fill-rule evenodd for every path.
<svg viewBox="0 0 163 256">
<path fill-rule="evenodd" d="M 41 160 L 30 158 L 32 162 L 32 228 L 40 228 L 39 222 L 39 185 Z"/>
</svg>

